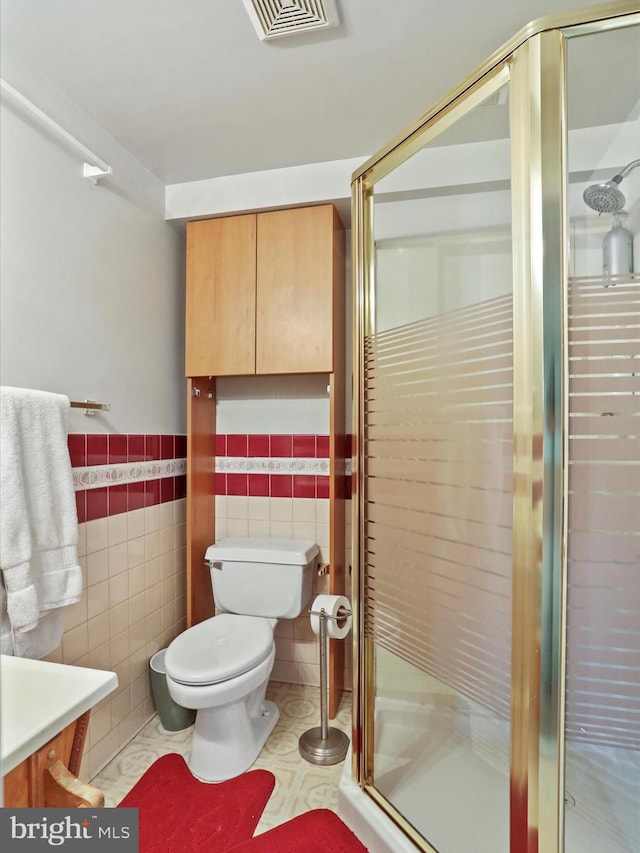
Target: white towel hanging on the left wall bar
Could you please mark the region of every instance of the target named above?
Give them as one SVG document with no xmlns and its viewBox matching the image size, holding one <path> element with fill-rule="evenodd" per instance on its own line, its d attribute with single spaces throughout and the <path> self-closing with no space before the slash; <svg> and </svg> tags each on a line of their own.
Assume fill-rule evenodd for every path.
<svg viewBox="0 0 640 853">
<path fill-rule="evenodd" d="M 82 593 L 67 449 L 69 400 L 3 387 L 0 402 L 0 569 L 15 653 L 26 646 L 22 654 L 31 657 L 36 655 L 29 649 L 40 644 L 27 637 L 17 642 L 16 632 L 37 630 L 48 611 L 73 604 Z M 61 624 L 46 624 L 54 622 Z"/>
</svg>

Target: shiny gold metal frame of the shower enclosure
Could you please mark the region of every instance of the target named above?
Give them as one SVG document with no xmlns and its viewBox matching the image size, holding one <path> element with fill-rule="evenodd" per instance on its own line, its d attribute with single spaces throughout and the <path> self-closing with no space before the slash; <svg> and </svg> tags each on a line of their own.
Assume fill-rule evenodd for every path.
<svg viewBox="0 0 640 853">
<path fill-rule="evenodd" d="M 431 853 L 429 842 L 373 784 L 374 649 L 363 630 L 363 392 L 364 340 L 374 328 L 374 187 L 509 80 L 514 299 L 510 846 L 513 853 L 561 853 L 568 463 L 565 48 L 572 36 L 638 24 L 639 11 L 637 4 L 619 2 L 534 22 L 353 176 L 352 773 L 418 849 Z"/>
</svg>

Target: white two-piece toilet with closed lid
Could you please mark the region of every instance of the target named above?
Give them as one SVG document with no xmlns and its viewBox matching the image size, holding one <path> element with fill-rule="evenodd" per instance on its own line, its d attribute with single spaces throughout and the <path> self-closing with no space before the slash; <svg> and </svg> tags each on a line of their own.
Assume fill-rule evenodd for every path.
<svg viewBox="0 0 640 853">
<path fill-rule="evenodd" d="M 196 710 L 187 763 L 199 779 L 244 773 L 278 722 L 264 698 L 273 632 L 309 605 L 318 551 L 307 540 L 247 538 L 207 549 L 216 615 L 176 637 L 164 661 L 171 697 Z"/>
</svg>

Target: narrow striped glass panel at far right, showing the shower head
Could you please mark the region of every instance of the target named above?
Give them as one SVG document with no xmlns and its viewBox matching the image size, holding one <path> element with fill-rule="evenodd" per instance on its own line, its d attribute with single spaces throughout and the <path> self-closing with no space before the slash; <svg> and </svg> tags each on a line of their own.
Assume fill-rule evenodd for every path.
<svg viewBox="0 0 640 853">
<path fill-rule="evenodd" d="M 640 850 L 640 28 L 572 38 L 567 60 L 565 851 L 632 853 Z"/>
</svg>

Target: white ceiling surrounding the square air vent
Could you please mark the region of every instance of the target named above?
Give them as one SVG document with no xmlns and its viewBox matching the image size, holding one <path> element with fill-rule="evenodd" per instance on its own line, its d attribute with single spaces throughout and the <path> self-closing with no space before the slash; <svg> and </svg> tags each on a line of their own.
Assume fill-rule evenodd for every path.
<svg viewBox="0 0 640 853">
<path fill-rule="evenodd" d="M 337 29 L 261 42 L 242 0 L 0 0 L 0 63 L 34 66 L 173 184 L 364 159 L 530 21 L 601 4 L 337 5 Z"/>
</svg>

